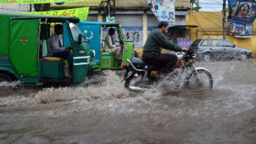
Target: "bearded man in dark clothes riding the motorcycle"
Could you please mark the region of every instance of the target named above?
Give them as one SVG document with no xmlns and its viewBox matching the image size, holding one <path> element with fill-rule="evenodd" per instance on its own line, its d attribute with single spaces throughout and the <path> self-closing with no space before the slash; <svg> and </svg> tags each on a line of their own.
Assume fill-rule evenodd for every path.
<svg viewBox="0 0 256 144">
<path fill-rule="evenodd" d="M 162 74 L 172 72 L 174 64 L 178 58 L 175 54 L 161 53 L 161 48 L 170 49 L 176 52 L 186 51 L 187 48 L 180 48 L 178 45 L 169 41 L 165 34 L 169 29 L 168 23 L 161 21 L 156 30 L 151 31 L 147 36 L 147 41 L 143 49 L 142 60 L 152 66 L 161 67 L 158 77 Z"/>
</svg>

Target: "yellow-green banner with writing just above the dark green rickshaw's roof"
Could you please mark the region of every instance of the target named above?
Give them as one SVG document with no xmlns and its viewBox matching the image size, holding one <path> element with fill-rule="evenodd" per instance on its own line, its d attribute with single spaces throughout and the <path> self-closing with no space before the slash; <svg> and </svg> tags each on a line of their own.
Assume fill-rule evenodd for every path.
<svg viewBox="0 0 256 144">
<path fill-rule="evenodd" d="M 71 17 L 78 17 L 80 20 L 87 20 L 88 12 L 89 12 L 89 7 L 59 10 L 59 11 L 48 11 L 48 12 L 22 12 L 22 13 L 36 14 L 36 15 L 49 15 L 49 16 L 71 16 Z"/>
</svg>

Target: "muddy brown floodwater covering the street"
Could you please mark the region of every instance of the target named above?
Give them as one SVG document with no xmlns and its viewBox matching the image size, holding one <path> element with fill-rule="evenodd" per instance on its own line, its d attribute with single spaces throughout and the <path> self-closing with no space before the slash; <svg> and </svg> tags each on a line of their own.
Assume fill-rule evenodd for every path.
<svg viewBox="0 0 256 144">
<path fill-rule="evenodd" d="M 256 60 L 195 66 L 212 91 L 132 93 L 111 71 L 75 86 L 0 83 L 0 143 L 256 143 Z"/>
</svg>

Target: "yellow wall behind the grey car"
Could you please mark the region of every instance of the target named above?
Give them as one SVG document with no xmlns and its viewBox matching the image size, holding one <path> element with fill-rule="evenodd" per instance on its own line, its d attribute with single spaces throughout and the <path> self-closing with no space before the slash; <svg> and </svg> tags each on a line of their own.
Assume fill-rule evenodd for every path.
<svg viewBox="0 0 256 144">
<path fill-rule="evenodd" d="M 223 39 L 222 17 L 221 12 L 189 12 L 187 16 L 187 25 L 197 25 L 189 31 L 192 42 L 195 39 Z M 228 13 L 226 13 L 228 16 Z M 195 21 L 197 20 L 197 21 Z M 256 24 L 254 22 L 254 34 L 252 38 L 237 38 L 230 35 L 228 25 L 226 23 L 226 39 L 231 43 L 246 49 L 250 49 L 256 54 Z"/>
</svg>

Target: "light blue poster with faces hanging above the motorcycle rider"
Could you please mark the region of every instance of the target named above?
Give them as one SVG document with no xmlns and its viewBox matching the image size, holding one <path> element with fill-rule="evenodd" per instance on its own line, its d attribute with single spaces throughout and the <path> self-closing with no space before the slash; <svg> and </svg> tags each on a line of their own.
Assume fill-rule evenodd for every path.
<svg viewBox="0 0 256 144">
<path fill-rule="evenodd" d="M 175 0 L 146 0 L 158 21 L 175 26 Z"/>
</svg>

